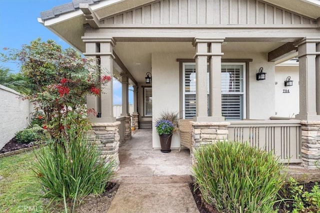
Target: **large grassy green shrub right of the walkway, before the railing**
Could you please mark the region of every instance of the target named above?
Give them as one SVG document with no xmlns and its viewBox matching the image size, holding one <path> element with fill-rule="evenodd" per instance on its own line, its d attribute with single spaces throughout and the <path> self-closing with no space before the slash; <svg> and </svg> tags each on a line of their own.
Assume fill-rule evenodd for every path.
<svg viewBox="0 0 320 213">
<path fill-rule="evenodd" d="M 199 147 L 193 173 L 206 203 L 224 213 L 271 213 L 284 183 L 271 153 L 238 142 Z"/>
</svg>

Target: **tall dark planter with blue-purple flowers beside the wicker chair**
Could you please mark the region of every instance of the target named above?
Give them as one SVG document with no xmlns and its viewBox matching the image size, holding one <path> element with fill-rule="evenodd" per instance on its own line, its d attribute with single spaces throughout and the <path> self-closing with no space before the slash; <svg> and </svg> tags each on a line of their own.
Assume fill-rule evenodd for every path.
<svg viewBox="0 0 320 213">
<path fill-rule="evenodd" d="M 161 152 L 169 153 L 171 152 L 171 138 L 172 132 L 174 130 L 174 125 L 169 120 L 159 120 L 155 124 L 156 132 L 160 137 L 160 145 L 161 145 Z"/>
</svg>

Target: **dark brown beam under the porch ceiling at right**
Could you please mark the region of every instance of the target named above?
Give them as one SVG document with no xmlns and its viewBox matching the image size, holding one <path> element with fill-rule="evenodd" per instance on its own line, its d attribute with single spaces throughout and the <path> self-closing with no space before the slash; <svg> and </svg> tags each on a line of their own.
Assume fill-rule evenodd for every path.
<svg viewBox="0 0 320 213">
<path fill-rule="evenodd" d="M 278 48 L 268 52 L 268 62 L 274 62 L 280 60 L 281 58 L 285 58 L 290 54 L 294 54 L 297 50 L 298 48 L 294 46 L 293 42 L 287 42 L 282 46 L 279 46 Z"/>
</svg>

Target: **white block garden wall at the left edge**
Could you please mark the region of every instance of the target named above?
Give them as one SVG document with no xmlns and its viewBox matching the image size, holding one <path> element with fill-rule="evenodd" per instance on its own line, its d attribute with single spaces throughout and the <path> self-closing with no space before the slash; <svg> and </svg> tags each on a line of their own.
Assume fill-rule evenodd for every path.
<svg viewBox="0 0 320 213">
<path fill-rule="evenodd" d="M 28 126 L 30 104 L 19 93 L 0 85 L 0 149 L 14 134 Z"/>
</svg>

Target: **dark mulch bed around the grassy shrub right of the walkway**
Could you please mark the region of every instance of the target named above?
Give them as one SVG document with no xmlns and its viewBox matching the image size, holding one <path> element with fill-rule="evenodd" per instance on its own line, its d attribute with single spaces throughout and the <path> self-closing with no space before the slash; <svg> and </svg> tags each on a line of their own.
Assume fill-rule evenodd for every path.
<svg viewBox="0 0 320 213">
<path fill-rule="evenodd" d="M 311 191 L 314 184 L 315 184 L 315 182 L 301 183 L 301 185 L 303 186 L 303 191 L 307 191 L 307 192 Z M 320 182 L 318 182 L 318 184 L 320 184 Z M 200 213 L 219 213 L 214 207 L 212 207 L 212 206 L 206 204 L 204 201 L 202 201 L 202 194 L 198 188 L 196 188 L 196 190 L 194 191 L 196 184 L 191 183 L 191 184 L 189 184 L 189 187 L 192 192 L 196 206 L 197 206 Z M 280 190 L 279 195 L 283 196 L 284 193 L 286 193 L 287 195 L 289 194 L 289 189 L 288 189 L 287 185 L 284 185 L 283 189 Z M 279 198 L 279 200 L 280 200 L 280 198 Z M 277 206 L 279 206 L 278 213 L 290 213 L 293 210 L 292 201 L 286 201 L 285 203 L 284 202 L 277 202 L 274 204 L 274 208 L 276 208 Z M 307 207 L 308 205 L 305 204 L 304 206 Z"/>
</svg>

